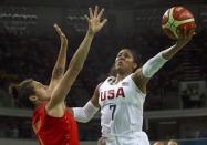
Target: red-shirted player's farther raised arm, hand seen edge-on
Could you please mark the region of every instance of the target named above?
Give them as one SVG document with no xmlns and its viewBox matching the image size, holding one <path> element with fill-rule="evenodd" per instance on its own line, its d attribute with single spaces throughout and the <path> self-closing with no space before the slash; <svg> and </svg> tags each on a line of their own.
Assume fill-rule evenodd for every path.
<svg viewBox="0 0 207 145">
<path fill-rule="evenodd" d="M 61 81 L 64 71 L 65 71 L 65 63 L 66 63 L 66 50 L 68 50 L 68 39 L 64 33 L 61 31 L 59 25 L 55 23 L 54 25 L 55 31 L 58 32 L 60 40 L 61 40 L 61 48 L 59 51 L 59 56 L 56 59 L 56 63 L 52 71 L 52 77 L 49 84 L 49 92 L 52 93 L 56 84 Z"/>
</svg>

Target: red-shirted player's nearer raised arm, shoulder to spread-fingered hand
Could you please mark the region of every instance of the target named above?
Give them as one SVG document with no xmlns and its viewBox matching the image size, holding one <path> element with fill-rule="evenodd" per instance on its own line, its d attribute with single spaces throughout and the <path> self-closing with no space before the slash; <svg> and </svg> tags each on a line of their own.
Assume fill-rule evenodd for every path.
<svg viewBox="0 0 207 145">
<path fill-rule="evenodd" d="M 85 15 L 87 22 L 89 22 L 89 30 L 86 32 L 86 35 L 74 53 L 71 63 L 69 65 L 69 69 L 66 70 L 64 76 L 62 77 L 59 85 L 55 87 L 55 90 L 52 92 L 51 100 L 49 104 L 46 105 L 46 111 L 50 115 L 53 116 L 62 116 L 64 113 L 63 104 L 64 99 L 66 94 L 69 93 L 72 84 L 74 83 L 76 76 L 79 75 L 80 71 L 83 68 L 84 61 L 86 59 L 86 55 L 89 53 L 92 40 L 103 25 L 106 23 L 106 19 L 102 19 L 102 14 L 104 12 L 104 9 L 102 9 L 99 12 L 99 7 L 95 7 L 94 12 L 92 9 L 89 9 L 90 17 Z"/>
</svg>

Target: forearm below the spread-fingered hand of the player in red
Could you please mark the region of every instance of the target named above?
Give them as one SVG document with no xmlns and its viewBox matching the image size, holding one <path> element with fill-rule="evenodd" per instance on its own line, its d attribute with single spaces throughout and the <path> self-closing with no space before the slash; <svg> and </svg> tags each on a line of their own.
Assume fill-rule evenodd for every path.
<svg viewBox="0 0 207 145">
<path fill-rule="evenodd" d="M 72 70 L 81 71 L 81 69 L 83 68 L 93 38 L 94 38 L 94 33 L 90 33 L 87 31 L 84 40 L 82 41 L 81 45 L 79 46 L 79 49 L 76 50 L 76 52 L 74 53 L 71 60 L 70 68 Z"/>
</svg>

